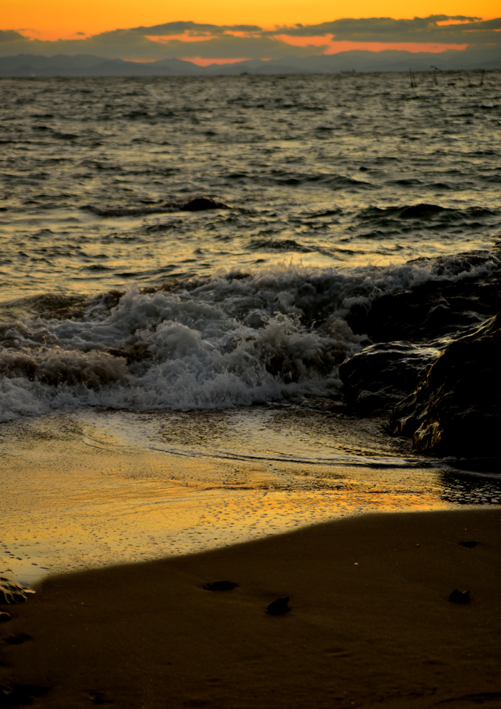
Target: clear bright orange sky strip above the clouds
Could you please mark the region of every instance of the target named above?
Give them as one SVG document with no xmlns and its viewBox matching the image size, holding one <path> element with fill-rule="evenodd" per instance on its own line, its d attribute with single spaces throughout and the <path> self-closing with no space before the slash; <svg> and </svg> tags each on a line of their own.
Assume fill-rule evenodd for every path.
<svg viewBox="0 0 501 709">
<path fill-rule="evenodd" d="M 1 0 L 1 29 L 30 30 L 33 38 L 77 39 L 77 32 L 97 34 L 116 28 L 152 26 L 172 21 L 213 24 L 254 24 L 264 28 L 295 23 L 314 24 L 342 17 L 426 17 L 431 14 L 500 15 L 499 0 Z"/>
</svg>

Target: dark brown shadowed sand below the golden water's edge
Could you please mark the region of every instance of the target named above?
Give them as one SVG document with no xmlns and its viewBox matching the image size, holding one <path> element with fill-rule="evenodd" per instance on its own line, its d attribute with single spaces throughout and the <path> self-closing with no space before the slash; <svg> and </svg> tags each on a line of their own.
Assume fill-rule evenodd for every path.
<svg viewBox="0 0 501 709">
<path fill-rule="evenodd" d="M 500 508 L 463 508 L 48 576 L 0 625 L 30 636 L 1 643 L 0 684 L 44 709 L 499 707 L 500 555 Z"/>
</svg>

